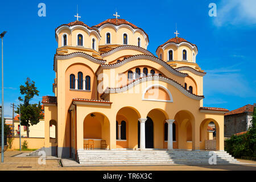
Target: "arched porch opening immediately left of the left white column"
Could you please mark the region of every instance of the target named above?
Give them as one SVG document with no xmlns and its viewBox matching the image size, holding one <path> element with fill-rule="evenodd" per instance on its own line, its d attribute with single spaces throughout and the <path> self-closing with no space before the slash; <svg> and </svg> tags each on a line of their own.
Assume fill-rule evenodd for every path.
<svg viewBox="0 0 256 182">
<path fill-rule="evenodd" d="M 134 107 L 122 107 L 116 116 L 116 147 L 138 148 L 137 121 L 141 118 Z"/>
</svg>

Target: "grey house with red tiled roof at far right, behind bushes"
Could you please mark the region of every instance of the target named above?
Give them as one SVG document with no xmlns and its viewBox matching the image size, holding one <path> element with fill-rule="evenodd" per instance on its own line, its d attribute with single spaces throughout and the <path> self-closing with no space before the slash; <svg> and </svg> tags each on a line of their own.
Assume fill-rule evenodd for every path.
<svg viewBox="0 0 256 182">
<path fill-rule="evenodd" d="M 234 134 L 247 131 L 253 119 L 254 106 L 247 104 L 224 114 L 224 135 L 231 137 Z"/>
</svg>

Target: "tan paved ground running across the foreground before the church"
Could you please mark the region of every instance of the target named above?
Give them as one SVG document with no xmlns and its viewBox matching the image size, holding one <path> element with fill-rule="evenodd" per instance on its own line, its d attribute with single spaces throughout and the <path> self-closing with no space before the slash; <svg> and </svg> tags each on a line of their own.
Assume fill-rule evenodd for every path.
<svg viewBox="0 0 256 182">
<path fill-rule="evenodd" d="M 25 152 L 25 151 L 22 151 Z M 88 166 L 88 167 L 61 167 L 58 159 L 47 159 L 46 164 L 39 164 L 37 157 L 14 157 L 20 151 L 6 151 L 5 162 L 0 163 L 1 171 L 256 171 L 256 162 L 240 160 L 242 163 L 234 165 L 168 165 L 168 166 Z"/>
</svg>

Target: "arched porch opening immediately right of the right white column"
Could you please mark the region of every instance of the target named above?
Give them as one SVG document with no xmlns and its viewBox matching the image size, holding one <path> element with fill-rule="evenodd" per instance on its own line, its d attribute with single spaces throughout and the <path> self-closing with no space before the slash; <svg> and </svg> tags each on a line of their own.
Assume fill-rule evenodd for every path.
<svg viewBox="0 0 256 182">
<path fill-rule="evenodd" d="M 177 112 L 174 117 L 177 123 L 177 148 L 192 150 L 193 148 L 193 123 L 195 117 L 188 110 L 181 110 Z"/>
</svg>

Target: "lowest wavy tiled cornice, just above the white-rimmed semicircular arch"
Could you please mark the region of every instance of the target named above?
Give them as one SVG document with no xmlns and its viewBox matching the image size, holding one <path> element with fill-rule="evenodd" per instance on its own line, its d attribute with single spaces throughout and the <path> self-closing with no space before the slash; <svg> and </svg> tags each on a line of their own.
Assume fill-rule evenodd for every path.
<svg viewBox="0 0 256 182">
<path fill-rule="evenodd" d="M 204 98 L 204 96 L 197 96 L 196 94 L 190 93 L 188 92 L 188 90 L 184 89 L 184 87 L 182 85 L 180 85 L 178 82 L 172 80 L 171 78 L 166 78 L 166 77 L 159 77 L 159 76 L 149 76 L 149 77 L 143 77 L 143 78 L 139 78 L 138 80 L 135 80 L 134 82 L 132 82 L 131 84 L 128 84 L 126 86 L 123 86 L 122 88 L 107 88 L 104 93 L 101 95 L 101 98 L 105 98 L 106 94 L 109 93 L 121 93 L 121 92 L 126 92 L 127 90 L 133 88 L 134 86 L 141 84 L 143 82 L 146 81 L 163 81 L 166 82 L 167 84 L 170 84 L 172 86 L 174 86 L 175 88 L 177 88 L 178 90 L 180 90 L 180 92 L 182 92 L 185 96 L 188 96 L 189 98 L 192 98 L 193 100 L 202 100 Z"/>
</svg>

